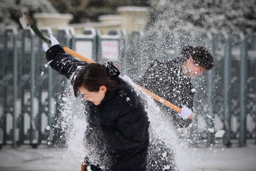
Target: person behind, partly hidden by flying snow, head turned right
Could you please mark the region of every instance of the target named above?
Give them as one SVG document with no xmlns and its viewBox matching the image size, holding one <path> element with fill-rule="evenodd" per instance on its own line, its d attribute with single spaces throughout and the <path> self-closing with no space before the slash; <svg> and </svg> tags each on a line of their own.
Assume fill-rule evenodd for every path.
<svg viewBox="0 0 256 171">
<path fill-rule="evenodd" d="M 189 116 L 192 115 L 195 94 L 191 78 L 202 75 L 204 71 L 212 69 L 213 63 L 213 57 L 205 47 L 185 46 L 181 51 L 181 55 L 177 58 L 169 61 L 152 61 L 144 75 L 135 82 L 180 107 L 181 113 L 177 113 L 158 103 L 161 110 L 165 111 L 164 117 L 168 118 L 175 128 L 187 127 L 192 122 Z M 154 142 L 154 140 L 152 141 Z M 175 170 L 174 154 L 169 154 L 171 156 L 170 162 L 164 162 L 161 159 L 161 151 L 154 151 L 154 149 L 158 148 L 161 151 L 168 151 L 161 142 L 151 143 L 148 152 L 150 156 L 148 171 L 163 170 L 164 165 L 170 165 L 169 170 Z"/>
</svg>

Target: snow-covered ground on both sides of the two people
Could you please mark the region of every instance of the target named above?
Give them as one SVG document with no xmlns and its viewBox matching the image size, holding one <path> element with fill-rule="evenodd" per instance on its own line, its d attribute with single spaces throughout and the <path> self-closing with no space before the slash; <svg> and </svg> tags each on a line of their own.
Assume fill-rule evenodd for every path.
<svg viewBox="0 0 256 171">
<path fill-rule="evenodd" d="M 256 146 L 244 148 L 187 149 L 180 171 L 256 171 Z M 0 151 L 0 171 L 80 171 L 79 159 L 67 149 L 41 146 L 32 149 L 4 147 Z"/>
</svg>

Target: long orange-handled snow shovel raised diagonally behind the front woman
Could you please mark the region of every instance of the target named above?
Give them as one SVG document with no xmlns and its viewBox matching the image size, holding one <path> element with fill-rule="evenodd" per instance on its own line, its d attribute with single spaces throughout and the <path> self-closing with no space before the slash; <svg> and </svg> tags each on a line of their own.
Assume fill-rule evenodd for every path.
<svg viewBox="0 0 256 171">
<path fill-rule="evenodd" d="M 27 25 L 30 26 L 30 28 L 35 32 L 35 34 L 41 38 L 43 41 L 47 42 L 47 43 L 51 43 L 50 38 L 45 37 L 40 30 L 37 28 L 37 26 L 35 26 L 35 23 L 33 22 L 33 20 L 29 17 L 28 14 L 26 14 L 25 12 L 23 12 L 23 17 L 20 18 L 20 23 L 21 25 L 24 27 L 26 27 Z M 74 57 L 80 59 L 81 61 L 85 61 L 88 63 L 95 63 L 94 61 L 90 60 L 89 58 L 84 57 L 83 55 L 80 55 L 79 53 L 73 51 L 72 49 L 69 49 L 68 47 L 61 45 L 64 49 L 64 51 L 70 55 L 73 55 Z M 135 83 L 134 83 L 135 84 Z M 156 94 L 152 93 L 151 91 L 141 87 L 138 84 L 135 84 L 137 87 L 140 87 L 141 90 L 143 90 L 146 94 L 148 94 L 149 96 L 151 96 L 153 99 L 155 99 L 156 101 L 159 101 L 160 103 L 166 105 L 169 108 L 172 108 L 173 110 L 177 111 L 178 113 L 181 112 L 181 108 L 177 107 L 175 104 L 172 104 L 171 102 L 161 98 L 160 96 L 157 96 Z M 189 119 L 192 119 L 193 115 L 189 116 Z"/>
</svg>

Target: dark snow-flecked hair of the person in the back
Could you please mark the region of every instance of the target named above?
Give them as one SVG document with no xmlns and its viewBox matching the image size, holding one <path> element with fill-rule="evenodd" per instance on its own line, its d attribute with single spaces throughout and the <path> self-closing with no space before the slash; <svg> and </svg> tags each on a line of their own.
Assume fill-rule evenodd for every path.
<svg viewBox="0 0 256 171">
<path fill-rule="evenodd" d="M 186 59 L 192 56 L 195 63 L 203 66 L 206 70 L 213 68 L 213 57 L 203 46 L 185 46 L 181 50 L 181 55 Z"/>
</svg>

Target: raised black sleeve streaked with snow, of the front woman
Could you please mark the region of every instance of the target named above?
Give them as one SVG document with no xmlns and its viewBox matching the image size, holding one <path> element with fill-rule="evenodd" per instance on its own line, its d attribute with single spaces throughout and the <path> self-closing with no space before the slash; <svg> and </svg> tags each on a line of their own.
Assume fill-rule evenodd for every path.
<svg viewBox="0 0 256 171">
<path fill-rule="evenodd" d="M 71 80 L 71 83 L 73 83 L 79 69 L 88 64 L 66 54 L 59 44 L 50 47 L 45 54 L 45 58 L 52 69 L 58 71 L 61 75 L 65 75 L 66 78 Z"/>
</svg>

